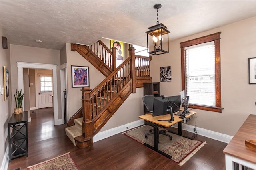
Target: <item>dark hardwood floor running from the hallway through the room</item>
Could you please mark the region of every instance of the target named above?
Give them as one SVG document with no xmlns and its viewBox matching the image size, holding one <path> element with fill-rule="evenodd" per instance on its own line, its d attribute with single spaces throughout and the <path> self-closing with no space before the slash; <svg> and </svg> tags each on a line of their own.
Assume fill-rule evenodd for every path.
<svg viewBox="0 0 256 170">
<path fill-rule="evenodd" d="M 66 125 L 54 126 L 52 108 L 35 110 L 28 123 L 28 157 L 9 162 L 8 170 L 27 166 L 71 152 L 81 170 L 224 170 L 226 143 L 196 135 L 206 141 L 183 166 L 150 150 L 124 134 L 116 134 L 95 142 L 92 147 L 78 149 L 65 134 Z M 191 135 L 188 132 L 184 134 Z"/>
</svg>

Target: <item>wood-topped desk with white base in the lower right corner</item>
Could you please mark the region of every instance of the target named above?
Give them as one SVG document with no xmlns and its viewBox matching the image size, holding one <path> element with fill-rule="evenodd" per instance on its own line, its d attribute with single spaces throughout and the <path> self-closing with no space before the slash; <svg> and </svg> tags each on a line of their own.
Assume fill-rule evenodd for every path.
<svg viewBox="0 0 256 170">
<path fill-rule="evenodd" d="M 256 139 L 256 115 L 250 114 L 238 132 L 223 150 L 226 159 L 226 170 L 232 170 L 233 162 L 256 169 L 256 150 L 245 145 L 245 140 Z"/>
</svg>

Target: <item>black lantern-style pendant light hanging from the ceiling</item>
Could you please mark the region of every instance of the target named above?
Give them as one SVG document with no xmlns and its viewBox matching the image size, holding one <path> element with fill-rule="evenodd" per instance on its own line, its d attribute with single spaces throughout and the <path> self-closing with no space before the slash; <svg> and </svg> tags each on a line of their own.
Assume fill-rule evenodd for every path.
<svg viewBox="0 0 256 170">
<path fill-rule="evenodd" d="M 149 27 L 147 31 L 148 53 L 153 55 L 159 55 L 169 53 L 169 33 L 167 27 L 158 21 L 158 9 L 161 8 L 161 4 L 155 4 L 156 9 L 156 25 Z M 152 38 L 150 38 L 152 36 Z M 150 51 L 149 47 L 154 45 L 154 50 Z"/>
</svg>

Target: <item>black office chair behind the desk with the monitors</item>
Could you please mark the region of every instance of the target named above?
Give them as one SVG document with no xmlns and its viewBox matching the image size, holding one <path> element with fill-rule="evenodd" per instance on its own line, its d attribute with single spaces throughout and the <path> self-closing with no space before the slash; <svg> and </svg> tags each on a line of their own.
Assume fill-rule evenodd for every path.
<svg viewBox="0 0 256 170">
<path fill-rule="evenodd" d="M 154 107 L 154 95 L 145 95 L 142 97 L 143 103 L 146 107 L 146 113 L 153 113 L 153 107 Z M 172 140 L 172 136 L 169 134 L 166 134 L 166 130 L 158 130 L 159 134 L 166 135 Z M 153 129 L 149 130 L 149 133 L 145 134 L 145 138 L 148 138 L 148 135 L 154 134 Z M 159 141 L 158 141 L 159 142 Z"/>
</svg>

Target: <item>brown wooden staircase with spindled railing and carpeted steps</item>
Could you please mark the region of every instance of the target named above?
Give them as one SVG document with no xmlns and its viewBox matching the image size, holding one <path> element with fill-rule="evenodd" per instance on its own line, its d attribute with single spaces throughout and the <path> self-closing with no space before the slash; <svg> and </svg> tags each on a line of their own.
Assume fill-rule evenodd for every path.
<svg viewBox="0 0 256 170">
<path fill-rule="evenodd" d="M 78 44 L 71 45 L 72 51 L 78 51 L 106 75 L 106 78 L 93 90 L 90 87 L 82 88 L 82 108 L 70 118 L 67 124 L 69 127 L 65 129 L 67 136 L 78 148 L 91 146 L 93 136 L 100 131 L 127 97 L 131 93 L 136 93 L 136 87 L 143 87 L 144 82 L 151 82 L 150 57 L 135 55 L 135 49 L 131 47 L 130 56 L 115 68 L 116 59 L 113 60 L 113 56 L 116 56 L 115 47 L 112 47 L 113 52 L 111 52 L 102 44 L 98 41 L 90 48 Z M 98 49 L 101 49 L 100 52 Z"/>
</svg>

